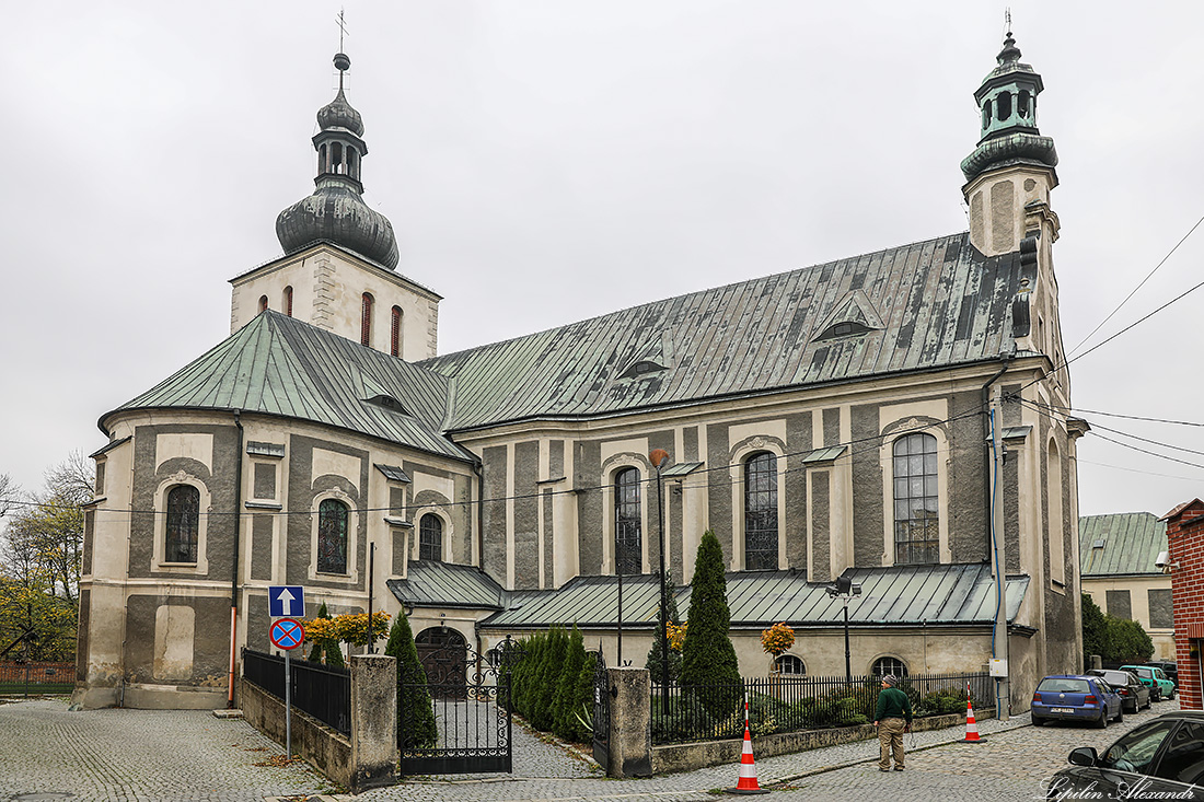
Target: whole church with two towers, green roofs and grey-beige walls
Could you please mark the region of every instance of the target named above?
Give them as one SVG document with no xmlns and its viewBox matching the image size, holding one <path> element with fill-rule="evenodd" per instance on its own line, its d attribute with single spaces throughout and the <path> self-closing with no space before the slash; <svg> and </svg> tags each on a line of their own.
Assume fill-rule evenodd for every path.
<svg viewBox="0 0 1204 802">
<path fill-rule="evenodd" d="M 441 354 L 442 296 L 361 197 L 336 55 L 284 255 L 231 279 L 229 338 L 100 418 L 76 701 L 225 706 L 284 584 L 308 615 L 405 613 L 420 651 L 576 624 L 642 666 L 662 559 L 687 618 L 712 530 L 745 676 L 778 621 L 779 670 L 843 674 L 845 578 L 854 674 L 980 671 L 1002 606 L 1025 709 L 1081 667 L 1087 426 L 1047 413 L 1070 407 L 1057 155 L 1020 58 L 1009 34 L 974 93 L 968 231 Z"/>
</svg>

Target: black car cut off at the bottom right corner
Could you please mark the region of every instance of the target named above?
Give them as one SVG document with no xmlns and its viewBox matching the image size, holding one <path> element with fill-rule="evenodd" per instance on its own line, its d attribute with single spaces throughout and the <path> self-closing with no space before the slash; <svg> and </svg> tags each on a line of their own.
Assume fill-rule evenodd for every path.
<svg viewBox="0 0 1204 802">
<path fill-rule="evenodd" d="M 1204 713 L 1180 710 L 1133 727 L 1103 755 L 1079 747 L 1047 800 L 1204 800 Z"/>
</svg>

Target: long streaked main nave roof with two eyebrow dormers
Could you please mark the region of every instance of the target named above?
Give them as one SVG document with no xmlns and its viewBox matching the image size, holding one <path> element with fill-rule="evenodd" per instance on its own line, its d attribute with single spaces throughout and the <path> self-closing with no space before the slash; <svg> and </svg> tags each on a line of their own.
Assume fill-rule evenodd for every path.
<svg viewBox="0 0 1204 802">
<path fill-rule="evenodd" d="M 925 371 L 1010 352 L 1020 278 L 1019 252 L 987 258 L 956 234 L 419 364 L 456 379 L 452 431 Z M 881 329 L 815 340 L 854 308 Z M 624 377 L 649 343 L 667 370 Z"/>
</svg>

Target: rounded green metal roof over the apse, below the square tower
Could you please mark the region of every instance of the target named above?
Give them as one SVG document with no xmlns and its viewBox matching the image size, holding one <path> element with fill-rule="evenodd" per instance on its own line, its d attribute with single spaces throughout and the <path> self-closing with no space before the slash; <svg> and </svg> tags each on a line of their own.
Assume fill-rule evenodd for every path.
<svg viewBox="0 0 1204 802">
<path fill-rule="evenodd" d="M 278 312 L 100 419 L 128 409 L 240 409 L 336 426 L 471 460 L 442 435 L 448 379 Z M 406 413 L 368 403 L 380 391 Z"/>
</svg>

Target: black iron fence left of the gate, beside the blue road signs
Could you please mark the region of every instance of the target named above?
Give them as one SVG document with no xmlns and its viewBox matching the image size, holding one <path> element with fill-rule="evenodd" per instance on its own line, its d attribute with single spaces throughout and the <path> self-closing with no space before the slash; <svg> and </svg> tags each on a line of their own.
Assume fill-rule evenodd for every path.
<svg viewBox="0 0 1204 802">
<path fill-rule="evenodd" d="M 352 732 L 352 672 L 307 660 L 290 660 L 291 703 L 343 735 Z M 284 698 L 284 657 L 242 650 L 242 676 L 265 691 Z"/>
</svg>

